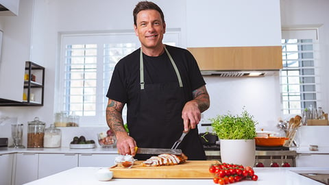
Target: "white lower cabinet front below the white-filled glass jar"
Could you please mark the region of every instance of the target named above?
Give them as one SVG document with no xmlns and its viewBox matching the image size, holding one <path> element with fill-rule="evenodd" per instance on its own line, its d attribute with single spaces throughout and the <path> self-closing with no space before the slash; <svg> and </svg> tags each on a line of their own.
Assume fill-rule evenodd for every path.
<svg viewBox="0 0 329 185">
<path fill-rule="evenodd" d="M 39 153 L 38 179 L 77 167 L 75 153 Z"/>
</svg>

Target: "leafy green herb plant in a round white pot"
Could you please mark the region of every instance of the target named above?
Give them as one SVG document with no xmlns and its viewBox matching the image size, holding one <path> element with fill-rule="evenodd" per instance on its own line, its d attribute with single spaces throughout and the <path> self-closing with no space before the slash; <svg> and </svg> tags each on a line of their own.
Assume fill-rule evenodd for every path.
<svg viewBox="0 0 329 185">
<path fill-rule="evenodd" d="M 212 121 L 212 129 L 221 145 L 221 162 L 253 167 L 255 162 L 256 121 L 245 108 L 241 115 L 230 112 L 218 115 Z"/>
</svg>

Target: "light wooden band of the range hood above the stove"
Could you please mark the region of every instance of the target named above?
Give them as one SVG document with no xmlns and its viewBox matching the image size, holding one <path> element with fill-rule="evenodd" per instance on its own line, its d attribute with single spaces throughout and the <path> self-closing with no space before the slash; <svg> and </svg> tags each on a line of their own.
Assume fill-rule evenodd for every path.
<svg viewBox="0 0 329 185">
<path fill-rule="evenodd" d="M 195 47 L 187 48 L 200 70 L 278 70 L 282 69 L 282 49 L 273 47 Z"/>
</svg>

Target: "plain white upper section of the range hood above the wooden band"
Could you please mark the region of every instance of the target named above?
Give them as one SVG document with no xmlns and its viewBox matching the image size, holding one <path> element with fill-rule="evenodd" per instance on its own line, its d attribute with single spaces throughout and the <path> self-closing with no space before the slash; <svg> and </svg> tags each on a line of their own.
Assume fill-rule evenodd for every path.
<svg viewBox="0 0 329 185">
<path fill-rule="evenodd" d="M 186 34 L 187 47 L 280 46 L 280 0 L 188 0 Z"/>
</svg>

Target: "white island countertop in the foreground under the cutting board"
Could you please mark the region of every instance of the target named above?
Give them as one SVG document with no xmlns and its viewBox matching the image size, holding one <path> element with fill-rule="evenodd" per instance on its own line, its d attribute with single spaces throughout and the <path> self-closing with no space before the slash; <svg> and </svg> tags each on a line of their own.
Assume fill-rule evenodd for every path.
<svg viewBox="0 0 329 185">
<path fill-rule="evenodd" d="M 305 171 L 305 170 L 320 170 L 329 172 L 329 168 L 254 168 L 255 174 L 258 175 L 258 181 L 243 180 L 242 182 L 236 182 L 235 184 L 245 185 L 271 185 L 271 184 L 286 184 L 286 185 L 299 185 L 308 184 L 316 185 L 321 184 L 314 180 L 298 175 L 293 171 Z M 44 177 L 40 180 L 29 182 L 26 185 L 58 185 L 58 184 L 189 184 L 189 185 L 206 185 L 215 184 L 212 180 L 195 180 L 195 179 L 112 179 L 107 182 L 98 181 L 95 177 L 99 168 L 96 167 L 76 167 L 67 171 L 62 171 L 55 175 Z M 129 169 L 127 169 L 129 170 Z"/>
</svg>

